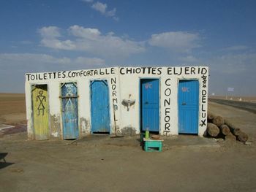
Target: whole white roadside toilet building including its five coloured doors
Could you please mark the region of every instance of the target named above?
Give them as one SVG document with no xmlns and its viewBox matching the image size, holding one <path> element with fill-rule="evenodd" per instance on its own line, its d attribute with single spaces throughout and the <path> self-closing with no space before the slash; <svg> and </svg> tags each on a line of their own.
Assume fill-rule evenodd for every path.
<svg viewBox="0 0 256 192">
<path fill-rule="evenodd" d="M 208 67 L 111 67 L 26 74 L 29 139 L 206 131 Z"/>
</svg>

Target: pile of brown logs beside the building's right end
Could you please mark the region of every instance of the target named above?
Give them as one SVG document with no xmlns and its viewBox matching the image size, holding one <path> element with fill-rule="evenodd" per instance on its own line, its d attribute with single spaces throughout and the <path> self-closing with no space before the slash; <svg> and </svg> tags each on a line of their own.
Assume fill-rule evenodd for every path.
<svg viewBox="0 0 256 192">
<path fill-rule="evenodd" d="M 206 131 L 210 137 L 222 137 L 223 139 L 233 139 L 244 143 L 248 140 L 247 134 L 222 116 L 208 112 L 207 122 Z"/>
</svg>

